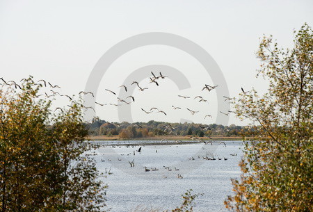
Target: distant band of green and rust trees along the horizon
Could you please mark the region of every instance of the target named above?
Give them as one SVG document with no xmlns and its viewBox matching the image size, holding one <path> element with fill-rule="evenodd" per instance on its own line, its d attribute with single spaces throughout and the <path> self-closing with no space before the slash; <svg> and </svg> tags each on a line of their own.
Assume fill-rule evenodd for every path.
<svg viewBox="0 0 313 212">
<path fill-rule="evenodd" d="M 170 124 L 175 128 L 166 130 Z M 140 126 L 140 127 L 139 127 Z M 242 133 L 252 131 L 251 127 L 223 126 L 222 124 L 195 124 L 195 123 L 168 123 L 150 120 L 149 122 L 121 122 L 113 123 L 94 118 L 91 123 L 87 124 L 90 136 L 119 136 L 120 138 L 147 138 L 154 136 L 241 136 Z"/>
</svg>

